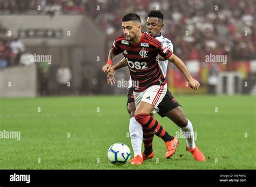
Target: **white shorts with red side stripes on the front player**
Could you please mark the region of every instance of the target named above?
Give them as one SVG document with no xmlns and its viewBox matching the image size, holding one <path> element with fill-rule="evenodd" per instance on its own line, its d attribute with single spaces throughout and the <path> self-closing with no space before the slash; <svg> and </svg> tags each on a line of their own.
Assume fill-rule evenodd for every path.
<svg viewBox="0 0 256 187">
<path fill-rule="evenodd" d="M 142 92 L 133 91 L 136 109 L 138 108 L 140 102 L 142 101 L 151 104 L 154 107 L 154 109 L 157 109 L 157 106 L 163 100 L 166 92 L 167 84 L 152 85 L 151 87 L 147 88 Z M 153 110 L 151 113 L 156 113 L 156 111 Z"/>
</svg>

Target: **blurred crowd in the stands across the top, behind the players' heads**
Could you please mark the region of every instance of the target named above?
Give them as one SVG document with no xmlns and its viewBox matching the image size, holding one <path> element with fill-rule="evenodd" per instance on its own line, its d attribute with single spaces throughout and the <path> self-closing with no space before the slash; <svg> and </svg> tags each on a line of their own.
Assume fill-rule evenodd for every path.
<svg viewBox="0 0 256 187">
<path fill-rule="evenodd" d="M 42 13 L 51 16 L 84 14 L 95 21 L 100 30 L 106 33 L 107 41 L 112 42 L 122 33 L 120 20 L 124 13 L 139 13 L 145 25 L 147 12 L 159 9 L 165 16 L 163 35 L 172 40 L 174 53 L 183 60 L 201 61 L 205 60 L 206 54 L 212 53 L 228 55 L 231 58 L 228 60 L 232 61 L 255 59 L 254 3 L 250 0 L 0 0 L 0 12 L 1 14 Z M 10 62 L 11 56 L 14 55 L 10 54 L 10 46 L 14 39 L 4 37 L 4 31 L 7 30 L 1 28 L 0 59 L 7 57 L 7 64 L 17 64 Z M 8 55 L 6 50 L 9 50 Z M 16 57 L 15 61 L 17 60 Z"/>
</svg>

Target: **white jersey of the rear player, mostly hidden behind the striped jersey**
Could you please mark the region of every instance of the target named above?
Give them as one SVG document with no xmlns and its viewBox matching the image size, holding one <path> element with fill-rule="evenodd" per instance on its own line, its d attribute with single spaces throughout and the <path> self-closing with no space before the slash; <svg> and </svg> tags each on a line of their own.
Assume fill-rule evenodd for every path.
<svg viewBox="0 0 256 187">
<path fill-rule="evenodd" d="M 158 37 L 156 37 L 156 39 L 158 41 L 160 41 L 163 46 L 165 47 L 169 47 L 171 49 L 171 51 L 173 52 L 173 45 L 172 45 L 172 42 L 171 40 L 169 40 L 168 38 L 164 38 L 163 35 L 159 35 Z M 163 75 L 164 77 L 166 77 L 166 73 L 167 73 L 167 66 L 168 66 L 168 60 L 164 60 L 164 61 L 158 61 L 158 64 L 163 72 Z M 132 78 L 130 76 L 130 81 L 129 81 L 129 87 L 128 88 L 131 88 L 132 87 Z"/>
</svg>

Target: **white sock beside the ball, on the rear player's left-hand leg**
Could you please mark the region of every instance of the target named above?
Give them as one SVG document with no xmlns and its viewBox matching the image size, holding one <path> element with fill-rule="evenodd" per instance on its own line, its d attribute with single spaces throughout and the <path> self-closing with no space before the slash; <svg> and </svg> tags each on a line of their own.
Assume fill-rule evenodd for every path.
<svg viewBox="0 0 256 187">
<path fill-rule="evenodd" d="M 130 119 L 129 131 L 134 157 L 137 155 L 142 157 L 142 125 L 140 125 L 134 117 Z"/>
</svg>

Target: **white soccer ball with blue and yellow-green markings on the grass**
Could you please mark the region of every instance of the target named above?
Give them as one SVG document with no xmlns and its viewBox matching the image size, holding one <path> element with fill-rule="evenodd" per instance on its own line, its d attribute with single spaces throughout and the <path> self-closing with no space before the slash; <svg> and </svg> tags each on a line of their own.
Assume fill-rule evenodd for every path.
<svg viewBox="0 0 256 187">
<path fill-rule="evenodd" d="M 114 143 L 107 151 L 109 161 L 117 166 L 122 166 L 130 160 L 131 150 L 124 143 Z"/>
</svg>

